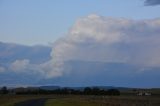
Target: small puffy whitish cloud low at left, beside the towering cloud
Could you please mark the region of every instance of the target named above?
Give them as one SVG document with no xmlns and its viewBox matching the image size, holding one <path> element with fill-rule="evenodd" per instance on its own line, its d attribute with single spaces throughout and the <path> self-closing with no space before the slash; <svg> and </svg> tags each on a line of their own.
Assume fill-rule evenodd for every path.
<svg viewBox="0 0 160 106">
<path fill-rule="evenodd" d="M 41 64 L 32 64 L 28 59 L 16 60 L 10 64 L 9 70 L 16 73 L 32 73 L 38 75 L 37 77 L 42 78 L 55 78 L 62 76 L 62 72 L 60 70 L 57 71 L 56 68 L 54 68 L 52 61 L 47 61 Z M 0 72 L 1 71 L 4 71 L 4 68 L 0 67 Z"/>
</svg>

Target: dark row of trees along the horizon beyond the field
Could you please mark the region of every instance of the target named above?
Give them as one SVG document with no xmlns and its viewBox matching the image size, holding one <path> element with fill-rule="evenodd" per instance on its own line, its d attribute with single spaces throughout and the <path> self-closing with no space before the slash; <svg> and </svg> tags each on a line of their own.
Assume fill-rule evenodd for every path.
<svg viewBox="0 0 160 106">
<path fill-rule="evenodd" d="M 10 90 L 10 92 L 21 95 L 21 94 L 74 94 L 74 95 L 120 95 L 120 91 L 118 89 L 100 89 L 98 87 L 85 87 L 83 90 L 76 90 L 71 88 L 59 88 L 55 90 L 44 90 L 44 89 L 27 89 L 16 91 L 16 89 Z M 9 90 L 6 87 L 1 88 L 1 94 L 8 94 Z"/>
</svg>

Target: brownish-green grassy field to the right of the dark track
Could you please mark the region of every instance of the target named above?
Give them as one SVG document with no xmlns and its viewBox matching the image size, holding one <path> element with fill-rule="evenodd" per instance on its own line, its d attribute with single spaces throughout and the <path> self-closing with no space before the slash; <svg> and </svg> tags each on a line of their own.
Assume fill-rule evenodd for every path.
<svg viewBox="0 0 160 106">
<path fill-rule="evenodd" d="M 49 99 L 46 106 L 160 106 L 159 97 L 75 96 Z"/>
</svg>

